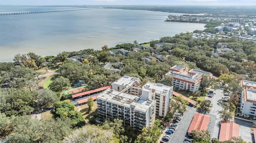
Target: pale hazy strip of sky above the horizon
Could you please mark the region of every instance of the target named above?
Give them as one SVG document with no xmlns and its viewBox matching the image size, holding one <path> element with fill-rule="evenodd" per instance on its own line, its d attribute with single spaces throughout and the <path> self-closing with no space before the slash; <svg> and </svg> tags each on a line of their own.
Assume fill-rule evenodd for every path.
<svg viewBox="0 0 256 143">
<path fill-rule="evenodd" d="M 0 5 L 256 5 L 256 0 L 0 0 Z"/>
</svg>

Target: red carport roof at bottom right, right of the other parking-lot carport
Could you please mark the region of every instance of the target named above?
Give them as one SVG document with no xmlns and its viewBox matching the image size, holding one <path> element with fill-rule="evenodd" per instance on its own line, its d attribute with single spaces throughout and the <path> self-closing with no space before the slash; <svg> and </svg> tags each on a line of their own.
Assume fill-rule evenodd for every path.
<svg viewBox="0 0 256 143">
<path fill-rule="evenodd" d="M 234 122 L 222 121 L 219 141 L 227 141 L 231 137 L 239 137 L 239 125 Z"/>
</svg>

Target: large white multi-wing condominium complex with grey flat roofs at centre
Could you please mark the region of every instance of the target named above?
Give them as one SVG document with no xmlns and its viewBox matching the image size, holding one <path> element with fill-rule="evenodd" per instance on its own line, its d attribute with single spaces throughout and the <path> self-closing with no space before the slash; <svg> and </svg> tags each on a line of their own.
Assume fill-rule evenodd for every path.
<svg viewBox="0 0 256 143">
<path fill-rule="evenodd" d="M 143 127 L 154 124 L 156 115 L 166 116 L 172 87 L 148 82 L 142 88 L 140 79 L 130 76 L 112 83 L 112 88 L 97 96 L 98 122 L 121 118 L 140 133 Z"/>
</svg>

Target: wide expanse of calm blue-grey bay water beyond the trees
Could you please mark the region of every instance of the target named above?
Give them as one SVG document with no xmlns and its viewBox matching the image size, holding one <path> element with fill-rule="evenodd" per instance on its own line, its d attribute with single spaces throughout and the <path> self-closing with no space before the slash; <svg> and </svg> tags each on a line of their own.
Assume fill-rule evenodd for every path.
<svg viewBox="0 0 256 143">
<path fill-rule="evenodd" d="M 30 12 L 64 7 L 0 6 L 0 12 Z M 203 30 L 205 24 L 164 22 L 169 14 L 144 10 L 90 9 L 0 16 L 0 62 L 15 54 L 42 57 L 62 51 L 100 50 L 103 45 L 144 43 L 181 32 Z"/>
</svg>

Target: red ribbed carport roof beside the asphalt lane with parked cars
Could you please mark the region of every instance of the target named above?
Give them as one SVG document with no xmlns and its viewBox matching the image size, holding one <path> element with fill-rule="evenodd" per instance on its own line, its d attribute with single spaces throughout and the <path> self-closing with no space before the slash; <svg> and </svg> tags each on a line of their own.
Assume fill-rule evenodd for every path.
<svg viewBox="0 0 256 143">
<path fill-rule="evenodd" d="M 195 113 L 194 118 L 192 119 L 190 126 L 188 128 L 188 133 L 191 133 L 193 130 L 205 130 L 208 127 L 208 123 L 210 121 L 210 117 Z"/>
</svg>

